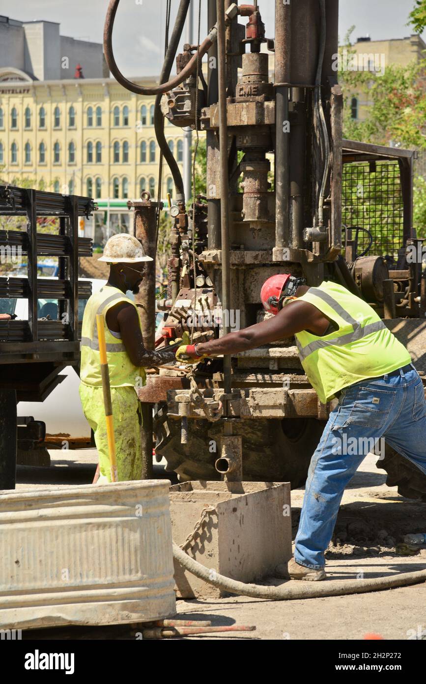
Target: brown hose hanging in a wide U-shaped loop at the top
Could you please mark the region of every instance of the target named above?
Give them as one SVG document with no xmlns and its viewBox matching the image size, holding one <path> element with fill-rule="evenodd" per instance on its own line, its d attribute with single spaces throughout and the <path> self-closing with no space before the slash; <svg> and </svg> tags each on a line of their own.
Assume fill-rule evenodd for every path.
<svg viewBox="0 0 426 684">
<path fill-rule="evenodd" d="M 123 86 L 123 88 L 126 88 L 126 90 L 135 92 L 138 95 L 156 95 L 158 93 L 167 92 L 167 90 L 172 90 L 173 88 L 176 88 L 176 86 L 179 86 L 180 83 L 183 83 L 183 81 L 185 81 L 193 73 L 193 71 L 197 68 L 197 60 L 202 60 L 203 56 L 208 52 L 210 47 L 212 47 L 212 44 L 217 39 L 217 29 L 216 26 L 214 26 L 211 29 L 210 34 L 208 34 L 207 38 L 203 40 L 197 52 L 193 55 L 188 64 L 186 64 L 186 66 L 182 69 L 180 74 L 173 77 L 173 79 L 167 83 L 160 83 L 159 86 L 139 86 L 137 83 L 128 81 L 128 79 L 122 75 L 121 71 L 117 67 L 117 64 L 115 63 L 113 54 L 113 26 L 118 5 L 119 0 L 110 0 L 108 10 L 106 11 L 104 25 L 104 54 L 106 64 L 108 64 L 109 70 L 111 71 L 113 77 L 118 81 L 120 86 Z"/>
</svg>

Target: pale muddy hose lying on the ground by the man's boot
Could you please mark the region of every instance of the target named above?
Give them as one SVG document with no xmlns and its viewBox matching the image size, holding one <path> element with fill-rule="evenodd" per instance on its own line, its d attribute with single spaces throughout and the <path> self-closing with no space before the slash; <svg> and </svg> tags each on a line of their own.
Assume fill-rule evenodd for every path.
<svg viewBox="0 0 426 684">
<path fill-rule="evenodd" d="M 235 579 L 212 573 L 173 542 L 173 556 L 182 568 L 203 579 L 208 584 L 231 594 L 251 596 L 253 599 L 270 599 L 271 601 L 294 601 L 295 599 L 318 599 L 322 596 L 345 596 L 346 594 L 365 594 L 384 589 L 408 586 L 426 581 L 426 570 L 416 570 L 414 573 L 402 573 L 391 577 L 374 577 L 373 579 L 356 579 L 341 581 L 331 579 L 322 582 L 298 581 L 297 586 L 275 587 L 260 584 L 245 584 Z"/>
</svg>

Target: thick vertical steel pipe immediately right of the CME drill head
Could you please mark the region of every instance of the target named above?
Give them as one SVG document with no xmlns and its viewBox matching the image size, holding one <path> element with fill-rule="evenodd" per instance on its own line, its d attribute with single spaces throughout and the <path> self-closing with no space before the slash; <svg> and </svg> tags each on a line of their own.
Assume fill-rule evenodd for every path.
<svg viewBox="0 0 426 684">
<path fill-rule="evenodd" d="M 291 5 L 275 0 L 275 83 L 290 82 Z M 276 88 L 275 247 L 289 246 L 289 89 Z"/>
</svg>

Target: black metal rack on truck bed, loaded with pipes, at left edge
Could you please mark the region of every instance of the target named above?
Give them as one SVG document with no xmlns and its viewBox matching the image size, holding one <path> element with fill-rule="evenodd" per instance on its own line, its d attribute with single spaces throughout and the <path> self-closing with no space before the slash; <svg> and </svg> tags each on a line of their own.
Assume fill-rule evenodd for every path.
<svg viewBox="0 0 426 684">
<path fill-rule="evenodd" d="M 91 283 L 79 282 L 79 257 L 92 251 L 91 239 L 79 237 L 79 217 L 95 208 L 87 197 L 0 185 L 2 263 L 16 252 L 27 258 L 26 277 L 0 274 L 0 301 L 28 300 L 27 320 L 0 320 L 0 489 L 15 487 L 17 444 L 28 449 L 44 440 L 44 424 L 17 417 L 16 404 L 42 402 L 65 378 L 61 371 L 79 365 L 79 295 L 91 294 Z M 3 229 L 1 217 L 16 216 L 25 217 L 26 229 Z M 38 231 L 48 217 L 57 219 L 55 234 Z M 39 257 L 57 257 L 57 278 L 38 278 Z M 57 319 L 40 315 L 41 298 L 57 300 Z"/>
</svg>

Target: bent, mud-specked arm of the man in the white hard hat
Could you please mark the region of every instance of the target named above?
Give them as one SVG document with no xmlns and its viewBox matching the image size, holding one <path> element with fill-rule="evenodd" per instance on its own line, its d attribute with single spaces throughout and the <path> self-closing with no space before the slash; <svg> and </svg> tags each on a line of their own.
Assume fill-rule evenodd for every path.
<svg viewBox="0 0 426 684">
<path fill-rule="evenodd" d="M 106 312 L 106 325 L 119 332 L 130 361 L 135 366 L 162 366 L 174 363 L 176 350 L 147 350 L 139 326 L 139 316 L 132 304 L 120 302 Z"/>
</svg>

